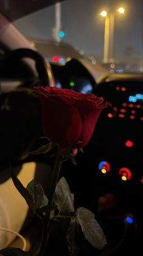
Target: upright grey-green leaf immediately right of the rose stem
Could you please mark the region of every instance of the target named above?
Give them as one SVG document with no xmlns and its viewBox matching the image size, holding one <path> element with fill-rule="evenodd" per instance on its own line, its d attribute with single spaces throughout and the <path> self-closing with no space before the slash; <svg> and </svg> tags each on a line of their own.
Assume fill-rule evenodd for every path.
<svg viewBox="0 0 143 256">
<path fill-rule="evenodd" d="M 65 177 L 62 177 L 60 181 L 58 181 L 55 189 L 54 203 L 58 206 L 58 214 L 69 214 L 75 211 L 74 194 L 71 193 Z"/>
</svg>

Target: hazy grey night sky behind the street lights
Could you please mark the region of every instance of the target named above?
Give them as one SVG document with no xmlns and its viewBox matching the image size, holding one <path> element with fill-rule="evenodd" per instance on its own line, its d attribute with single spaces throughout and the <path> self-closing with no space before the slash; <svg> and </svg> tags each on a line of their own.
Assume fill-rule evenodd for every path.
<svg viewBox="0 0 143 256">
<path fill-rule="evenodd" d="M 120 6 L 125 14 L 116 13 Z M 61 2 L 61 24 L 71 43 L 86 55 L 103 56 L 104 19 L 99 13 L 106 9 L 115 14 L 114 56 L 120 58 L 126 47 L 142 57 L 142 0 L 66 0 Z M 30 37 L 52 39 L 55 26 L 55 7 L 47 7 L 15 21 L 21 31 Z"/>
</svg>

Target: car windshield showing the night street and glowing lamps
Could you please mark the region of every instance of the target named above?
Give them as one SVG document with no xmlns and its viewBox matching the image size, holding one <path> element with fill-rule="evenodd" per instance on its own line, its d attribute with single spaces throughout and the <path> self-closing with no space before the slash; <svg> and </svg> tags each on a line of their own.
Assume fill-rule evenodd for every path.
<svg viewBox="0 0 143 256">
<path fill-rule="evenodd" d="M 81 56 L 110 72 L 142 72 L 142 0 L 66 0 L 14 23 L 49 61 Z"/>
</svg>

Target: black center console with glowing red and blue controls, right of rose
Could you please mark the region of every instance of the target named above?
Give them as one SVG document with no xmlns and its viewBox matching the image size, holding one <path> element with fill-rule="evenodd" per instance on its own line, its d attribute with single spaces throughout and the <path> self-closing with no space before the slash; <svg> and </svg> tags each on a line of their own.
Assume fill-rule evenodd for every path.
<svg viewBox="0 0 143 256">
<path fill-rule="evenodd" d="M 68 77 L 71 78 L 72 73 Z M 83 75 L 79 80 L 84 86 L 82 79 Z M 69 82 L 64 85 L 70 88 Z M 83 87 L 75 83 L 72 89 L 82 92 Z M 85 206 L 96 214 L 111 243 L 117 245 L 123 239 L 126 218 L 131 218 L 136 228 L 132 230 L 133 236 L 127 235 L 122 249 L 126 254 L 138 255 L 136 248 L 141 247 L 143 214 L 142 75 L 108 77 L 92 85 L 88 93 L 103 97 L 111 107 L 102 111 L 91 140 L 83 154 L 78 153 L 76 157 L 77 166 L 65 164 L 63 173 L 75 194 L 77 206 Z M 131 239 L 133 246 L 130 246 Z M 120 252 L 111 255 L 120 255 Z"/>
</svg>

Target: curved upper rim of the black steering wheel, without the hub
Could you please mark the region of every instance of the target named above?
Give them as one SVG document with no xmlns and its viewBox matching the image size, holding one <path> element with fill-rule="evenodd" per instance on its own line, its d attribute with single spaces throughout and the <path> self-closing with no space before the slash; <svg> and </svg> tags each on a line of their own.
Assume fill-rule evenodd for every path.
<svg viewBox="0 0 143 256">
<path fill-rule="evenodd" d="M 12 64 L 13 62 L 17 62 L 23 58 L 30 58 L 35 61 L 35 66 L 38 72 L 38 86 L 53 86 L 54 85 L 54 76 L 52 74 L 51 65 L 49 62 L 46 62 L 43 56 L 38 53 L 38 51 L 29 49 L 29 48 L 18 48 L 16 50 L 9 51 L 3 59 L 1 59 L 1 66 L 7 66 L 7 64 Z M 35 73 L 33 72 L 32 67 L 27 62 L 27 66 L 29 66 L 30 72 L 33 73 L 35 77 Z"/>
</svg>

